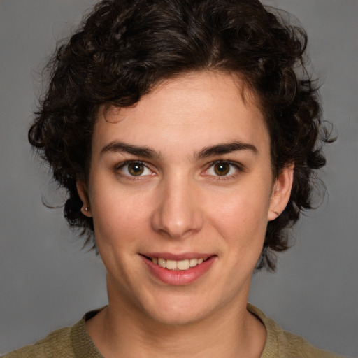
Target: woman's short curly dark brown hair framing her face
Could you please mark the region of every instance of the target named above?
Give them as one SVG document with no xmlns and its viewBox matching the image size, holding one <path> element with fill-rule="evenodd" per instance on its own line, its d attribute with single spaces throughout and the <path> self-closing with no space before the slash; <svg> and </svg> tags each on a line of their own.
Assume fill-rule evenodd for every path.
<svg viewBox="0 0 358 358">
<path fill-rule="evenodd" d="M 313 173 L 325 164 L 317 87 L 305 69 L 306 32 L 257 0 L 103 0 L 49 63 L 50 85 L 29 141 L 68 192 L 64 216 L 93 240 L 76 180 L 87 180 L 99 106 L 131 106 L 159 81 L 191 71 L 238 73 L 257 96 L 271 136 L 273 175 L 294 163 L 283 213 L 268 222 L 257 269 L 275 269 L 287 227 L 312 208 Z"/>
</svg>

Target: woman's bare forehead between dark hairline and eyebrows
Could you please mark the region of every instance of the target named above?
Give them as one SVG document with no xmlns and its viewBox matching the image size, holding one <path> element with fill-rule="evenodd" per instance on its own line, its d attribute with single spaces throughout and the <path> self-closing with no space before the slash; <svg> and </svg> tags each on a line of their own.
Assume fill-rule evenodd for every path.
<svg viewBox="0 0 358 358">
<path fill-rule="evenodd" d="M 177 152 L 232 141 L 258 149 L 269 143 L 255 96 L 237 76 L 213 72 L 166 80 L 130 108 L 101 108 L 94 150 L 111 141 Z"/>
</svg>

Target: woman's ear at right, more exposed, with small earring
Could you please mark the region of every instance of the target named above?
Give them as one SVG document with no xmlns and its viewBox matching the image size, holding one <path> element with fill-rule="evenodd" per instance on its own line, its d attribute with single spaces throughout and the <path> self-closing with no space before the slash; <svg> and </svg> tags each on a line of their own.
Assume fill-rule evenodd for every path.
<svg viewBox="0 0 358 358">
<path fill-rule="evenodd" d="M 267 220 L 275 220 L 285 210 L 291 195 L 292 182 L 294 180 L 294 164 L 286 166 L 279 174 L 273 185 L 270 208 Z"/>
</svg>

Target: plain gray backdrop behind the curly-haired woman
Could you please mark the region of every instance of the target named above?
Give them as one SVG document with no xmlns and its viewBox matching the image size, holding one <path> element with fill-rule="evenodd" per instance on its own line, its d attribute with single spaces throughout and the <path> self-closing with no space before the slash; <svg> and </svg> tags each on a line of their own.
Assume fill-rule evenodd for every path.
<svg viewBox="0 0 358 358">
<path fill-rule="evenodd" d="M 62 218 L 27 129 L 45 57 L 92 0 L 0 0 L 0 353 L 32 343 L 106 304 L 105 271 Z M 299 18 L 338 141 L 322 172 L 329 196 L 294 231 L 278 272 L 259 273 L 250 301 L 285 329 L 358 356 L 357 1 L 271 0 Z"/>
</svg>

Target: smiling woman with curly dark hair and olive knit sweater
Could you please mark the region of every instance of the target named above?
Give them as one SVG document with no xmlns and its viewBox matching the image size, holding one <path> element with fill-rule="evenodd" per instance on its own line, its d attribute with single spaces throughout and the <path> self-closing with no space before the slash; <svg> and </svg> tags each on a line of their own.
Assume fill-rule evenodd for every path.
<svg viewBox="0 0 358 358">
<path fill-rule="evenodd" d="M 109 303 L 8 357 L 334 357 L 248 306 L 325 162 L 305 47 L 256 1 L 96 6 L 57 52 L 29 139 Z"/>
</svg>

